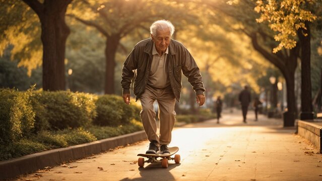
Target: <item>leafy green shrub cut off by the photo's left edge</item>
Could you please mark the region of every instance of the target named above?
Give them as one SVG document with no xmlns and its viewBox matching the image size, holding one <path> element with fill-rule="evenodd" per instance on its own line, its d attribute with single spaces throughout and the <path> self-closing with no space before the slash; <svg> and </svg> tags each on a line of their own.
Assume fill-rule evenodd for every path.
<svg viewBox="0 0 322 181">
<path fill-rule="evenodd" d="M 0 89 L 0 144 L 18 141 L 34 127 L 35 113 L 28 99 L 31 89 Z"/>
</svg>

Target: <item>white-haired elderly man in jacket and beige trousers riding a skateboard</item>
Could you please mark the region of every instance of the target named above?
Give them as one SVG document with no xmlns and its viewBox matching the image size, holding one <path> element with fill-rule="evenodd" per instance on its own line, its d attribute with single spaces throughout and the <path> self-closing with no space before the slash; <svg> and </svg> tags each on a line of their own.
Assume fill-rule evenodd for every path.
<svg viewBox="0 0 322 181">
<path fill-rule="evenodd" d="M 205 87 L 199 67 L 188 50 L 171 39 L 174 26 L 166 20 L 154 22 L 150 27 L 151 38 L 135 45 L 127 56 L 122 69 L 123 100 L 130 104 L 131 80 L 136 74 L 134 94 L 140 99 L 140 113 L 144 130 L 150 141 L 147 154 L 169 154 L 168 144 L 175 123 L 175 100 L 181 94 L 181 72 L 196 91 L 199 106 L 205 103 Z M 157 135 L 154 101 L 159 106 L 160 135 Z"/>
</svg>

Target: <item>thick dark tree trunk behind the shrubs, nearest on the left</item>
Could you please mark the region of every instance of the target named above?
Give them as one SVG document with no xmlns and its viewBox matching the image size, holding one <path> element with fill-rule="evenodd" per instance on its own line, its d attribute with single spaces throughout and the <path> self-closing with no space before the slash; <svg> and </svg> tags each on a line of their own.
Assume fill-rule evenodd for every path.
<svg viewBox="0 0 322 181">
<path fill-rule="evenodd" d="M 45 91 L 65 90 L 65 46 L 70 29 L 65 23 L 72 0 L 23 0 L 38 15 L 43 44 L 42 86 Z"/>
</svg>

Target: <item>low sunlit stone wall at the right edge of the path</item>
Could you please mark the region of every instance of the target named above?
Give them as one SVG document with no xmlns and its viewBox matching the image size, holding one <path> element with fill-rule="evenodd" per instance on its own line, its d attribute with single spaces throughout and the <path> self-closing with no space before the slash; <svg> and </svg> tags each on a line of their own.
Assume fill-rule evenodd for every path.
<svg viewBox="0 0 322 181">
<path fill-rule="evenodd" d="M 298 121 L 298 134 L 314 144 L 322 153 L 322 122 Z"/>
</svg>

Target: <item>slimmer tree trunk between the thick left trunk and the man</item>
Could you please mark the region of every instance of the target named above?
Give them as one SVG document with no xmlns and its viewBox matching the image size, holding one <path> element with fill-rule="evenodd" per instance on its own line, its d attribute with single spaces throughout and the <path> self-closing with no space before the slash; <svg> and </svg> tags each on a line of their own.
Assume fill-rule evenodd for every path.
<svg viewBox="0 0 322 181">
<path fill-rule="evenodd" d="M 115 94 L 114 72 L 115 72 L 115 54 L 119 44 L 120 36 L 118 34 L 108 36 L 106 39 L 105 58 L 105 94 Z"/>
</svg>

